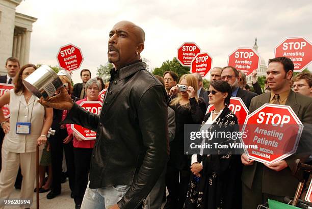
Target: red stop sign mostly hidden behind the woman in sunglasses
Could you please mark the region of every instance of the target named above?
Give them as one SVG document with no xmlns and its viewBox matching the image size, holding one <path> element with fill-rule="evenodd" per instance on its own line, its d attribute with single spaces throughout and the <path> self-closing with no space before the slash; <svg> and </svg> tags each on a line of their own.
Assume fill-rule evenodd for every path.
<svg viewBox="0 0 312 209">
<path fill-rule="evenodd" d="M 243 125 L 248 115 L 248 109 L 243 100 L 240 97 L 231 96 L 228 109 L 230 109 L 230 111 L 232 111 L 236 115 L 238 123 Z M 215 106 L 209 105 L 206 114 L 210 113 L 213 110 L 215 110 Z M 240 128 L 242 128 L 242 126 L 240 126 Z"/>
</svg>

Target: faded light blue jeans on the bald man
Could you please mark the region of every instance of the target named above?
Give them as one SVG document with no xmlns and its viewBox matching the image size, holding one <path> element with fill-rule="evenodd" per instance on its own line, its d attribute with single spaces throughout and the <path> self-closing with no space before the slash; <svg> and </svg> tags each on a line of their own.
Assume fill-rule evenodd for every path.
<svg viewBox="0 0 312 209">
<path fill-rule="evenodd" d="M 118 185 L 114 187 L 89 188 L 90 181 L 84 195 L 81 209 L 109 209 L 116 204 L 128 191 L 130 186 Z"/>
</svg>

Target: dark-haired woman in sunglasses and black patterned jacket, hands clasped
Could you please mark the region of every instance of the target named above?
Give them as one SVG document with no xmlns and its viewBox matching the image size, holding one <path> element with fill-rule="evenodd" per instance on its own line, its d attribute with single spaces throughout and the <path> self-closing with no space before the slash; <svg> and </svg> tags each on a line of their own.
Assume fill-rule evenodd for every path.
<svg viewBox="0 0 312 209">
<path fill-rule="evenodd" d="M 208 96 L 210 105 L 214 105 L 215 110 L 208 113 L 204 119 L 200 131 L 209 132 L 223 131 L 235 132 L 237 126 L 237 117 L 227 108 L 231 96 L 231 87 L 225 81 L 212 81 L 209 87 Z M 225 138 L 222 138 L 225 137 Z M 202 139 L 201 143 L 206 143 L 207 139 Z M 209 138 L 212 144 L 231 143 L 232 138 L 221 136 L 221 138 Z M 231 149 L 213 149 L 211 154 L 200 149 L 199 153 L 192 155 L 191 161 L 191 179 L 187 194 L 185 208 L 237 208 L 233 206 L 233 188 L 234 182 L 231 182 L 235 176 L 235 170 L 231 167 L 232 150 Z"/>
</svg>

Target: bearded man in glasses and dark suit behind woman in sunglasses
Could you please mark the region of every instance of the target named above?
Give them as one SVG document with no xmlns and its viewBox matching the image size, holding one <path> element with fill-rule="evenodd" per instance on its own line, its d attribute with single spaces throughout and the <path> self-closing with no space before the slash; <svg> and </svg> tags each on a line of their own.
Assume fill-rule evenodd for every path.
<svg viewBox="0 0 312 209">
<path fill-rule="evenodd" d="M 257 94 L 243 90 L 239 87 L 239 71 L 232 66 L 226 66 L 221 71 L 221 80 L 226 81 L 232 87 L 232 96 L 242 98 L 246 107 L 249 109 L 252 97 Z"/>
</svg>

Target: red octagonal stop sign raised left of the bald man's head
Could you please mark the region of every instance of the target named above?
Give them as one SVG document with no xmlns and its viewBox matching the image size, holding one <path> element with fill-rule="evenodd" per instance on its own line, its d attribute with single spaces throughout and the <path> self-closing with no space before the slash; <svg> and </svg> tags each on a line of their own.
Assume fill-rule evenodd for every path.
<svg viewBox="0 0 312 209">
<path fill-rule="evenodd" d="M 73 44 L 68 44 L 60 48 L 57 59 L 60 67 L 68 71 L 73 71 L 80 68 L 84 57 L 80 48 Z"/>
</svg>

